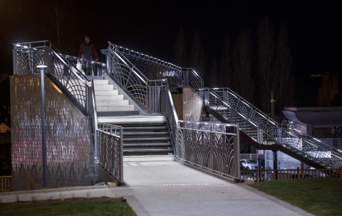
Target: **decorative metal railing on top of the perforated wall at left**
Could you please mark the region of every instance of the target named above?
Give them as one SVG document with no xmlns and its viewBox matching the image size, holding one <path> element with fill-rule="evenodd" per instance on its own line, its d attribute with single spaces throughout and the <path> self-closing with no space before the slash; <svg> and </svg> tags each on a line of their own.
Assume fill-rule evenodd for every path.
<svg viewBox="0 0 342 216">
<path fill-rule="evenodd" d="M 77 70 L 65 55 L 49 41 L 35 41 L 14 44 L 14 75 L 39 74 L 37 65 L 47 65 L 46 73 L 74 98 L 82 109 L 88 112 L 88 88 L 90 81 Z"/>
</svg>

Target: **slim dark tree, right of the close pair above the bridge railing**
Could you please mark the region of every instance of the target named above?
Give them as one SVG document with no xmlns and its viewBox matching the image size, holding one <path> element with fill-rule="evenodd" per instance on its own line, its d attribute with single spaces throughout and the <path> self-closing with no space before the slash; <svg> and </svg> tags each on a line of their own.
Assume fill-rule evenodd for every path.
<svg viewBox="0 0 342 216">
<path fill-rule="evenodd" d="M 205 67 L 205 57 L 204 48 L 198 29 L 195 31 L 194 39 L 192 41 L 190 64 L 191 68 L 194 68 L 199 75 L 203 75 Z"/>
</svg>

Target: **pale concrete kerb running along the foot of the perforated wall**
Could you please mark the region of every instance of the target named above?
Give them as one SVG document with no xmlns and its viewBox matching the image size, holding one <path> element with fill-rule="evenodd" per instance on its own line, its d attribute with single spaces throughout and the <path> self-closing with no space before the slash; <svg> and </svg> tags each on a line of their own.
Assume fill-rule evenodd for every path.
<svg viewBox="0 0 342 216">
<path fill-rule="evenodd" d="M 37 189 L 37 190 L 18 190 L 18 191 L 10 191 L 10 192 L 0 192 L 0 195 L 16 195 L 16 194 L 28 194 L 28 193 L 53 193 L 53 192 L 72 191 L 72 190 L 92 190 L 92 189 L 104 189 L 104 188 L 108 188 L 108 185 L 49 188 L 49 189 Z"/>
</svg>

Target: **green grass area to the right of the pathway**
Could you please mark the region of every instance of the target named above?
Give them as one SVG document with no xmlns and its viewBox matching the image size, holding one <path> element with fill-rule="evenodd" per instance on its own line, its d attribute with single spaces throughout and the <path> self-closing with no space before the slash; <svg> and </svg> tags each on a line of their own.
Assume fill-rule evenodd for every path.
<svg viewBox="0 0 342 216">
<path fill-rule="evenodd" d="M 314 215 L 342 215 L 342 179 L 269 180 L 252 187 Z"/>
</svg>

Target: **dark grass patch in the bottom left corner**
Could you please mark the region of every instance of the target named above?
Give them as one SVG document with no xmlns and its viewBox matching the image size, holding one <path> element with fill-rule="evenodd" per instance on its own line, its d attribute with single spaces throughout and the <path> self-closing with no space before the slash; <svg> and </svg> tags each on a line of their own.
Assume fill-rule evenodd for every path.
<svg viewBox="0 0 342 216">
<path fill-rule="evenodd" d="M 84 200 L 52 204 L 16 203 L 0 205 L 0 215 L 135 215 L 127 202 L 118 200 Z"/>
</svg>

